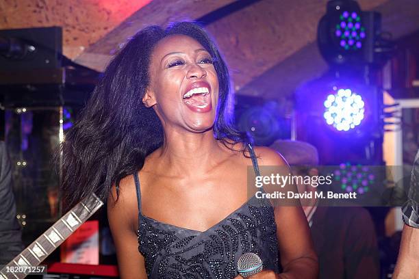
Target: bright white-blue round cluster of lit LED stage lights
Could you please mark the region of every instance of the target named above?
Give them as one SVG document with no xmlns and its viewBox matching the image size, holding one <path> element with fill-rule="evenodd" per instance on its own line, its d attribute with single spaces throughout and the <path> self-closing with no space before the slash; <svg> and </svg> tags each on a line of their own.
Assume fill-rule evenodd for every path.
<svg viewBox="0 0 419 279">
<path fill-rule="evenodd" d="M 329 94 L 323 104 L 323 116 L 327 124 L 338 131 L 354 129 L 364 119 L 364 101 L 350 89 L 340 89 L 335 94 Z"/>
</svg>

